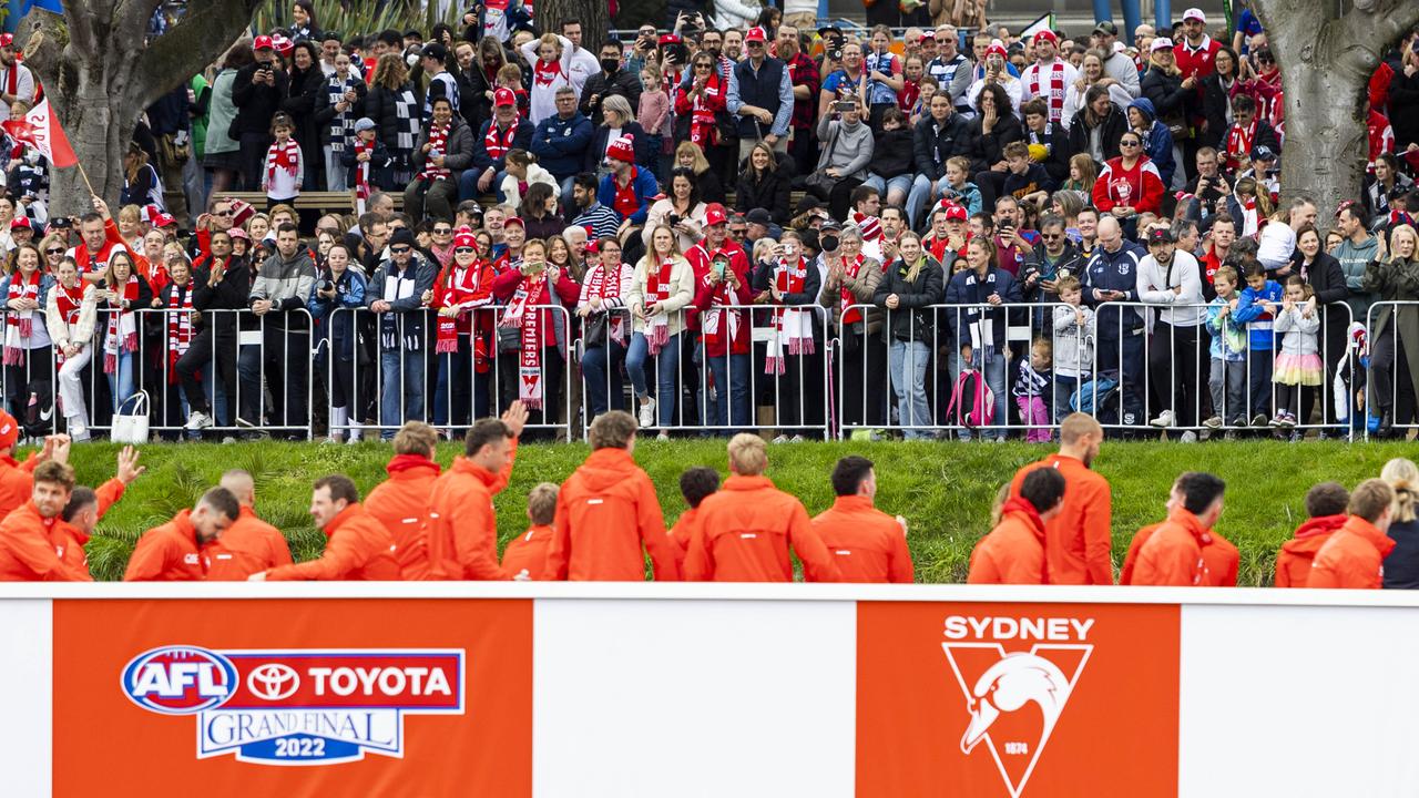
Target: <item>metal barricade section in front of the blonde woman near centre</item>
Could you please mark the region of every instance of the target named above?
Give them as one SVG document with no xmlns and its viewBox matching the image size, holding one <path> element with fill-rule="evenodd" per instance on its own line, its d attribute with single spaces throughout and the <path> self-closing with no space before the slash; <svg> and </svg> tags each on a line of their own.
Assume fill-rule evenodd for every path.
<svg viewBox="0 0 1419 798">
<path fill-rule="evenodd" d="M 829 436 L 834 393 L 826 366 L 836 341 L 823 307 L 681 310 L 667 319 L 664 344 L 656 344 L 648 324 L 636 331 L 629 310 L 610 314 L 604 335 L 597 331 L 586 341 L 587 327 L 600 327 L 589 317 L 578 342 L 586 427 L 603 409 L 624 409 L 664 434 L 775 430 L 785 439 Z M 698 329 L 691 331 L 687 322 L 695 318 Z M 620 339 L 612 321 L 622 324 Z"/>
</svg>

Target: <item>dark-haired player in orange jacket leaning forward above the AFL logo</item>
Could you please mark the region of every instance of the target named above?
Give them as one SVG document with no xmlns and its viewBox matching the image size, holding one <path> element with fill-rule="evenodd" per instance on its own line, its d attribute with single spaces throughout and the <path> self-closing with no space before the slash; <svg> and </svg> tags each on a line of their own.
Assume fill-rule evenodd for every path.
<svg viewBox="0 0 1419 798">
<path fill-rule="evenodd" d="M 241 504 L 224 487 L 210 488 L 192 510 L 183 510 L 166 524 L 148 530 L 138 538 L 128 558 L 125 582 L 199 581 L 201 547 L 216 541 L 241 514 Z"/>
</svg>

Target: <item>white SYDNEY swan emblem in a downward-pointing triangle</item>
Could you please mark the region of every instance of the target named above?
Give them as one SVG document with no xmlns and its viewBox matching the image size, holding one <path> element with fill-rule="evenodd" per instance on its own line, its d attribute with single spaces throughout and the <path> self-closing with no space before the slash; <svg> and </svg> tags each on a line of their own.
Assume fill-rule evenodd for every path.
<svg viewBox="0 0 1419 798">
<path fill-rule="evenodd" d="M 969 720 L 961 751 L 982 743 L 1012 798 L 1020 798 L 1054 726 L 1094 650 L 1084 643 L 1093 619 L 976 618 L 945 621 L 951 670 L 965 694 Z M 1005 642 L 1016 643 L 1006 652 Z M 1029 650 L 1020 645 L 1034 640 Z"/>
</svg>

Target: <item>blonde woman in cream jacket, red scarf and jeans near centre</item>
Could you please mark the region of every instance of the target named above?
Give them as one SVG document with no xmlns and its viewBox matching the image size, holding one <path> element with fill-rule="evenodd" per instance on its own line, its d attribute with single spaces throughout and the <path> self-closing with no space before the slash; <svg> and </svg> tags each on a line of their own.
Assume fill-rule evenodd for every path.
<svg viewBox="0 0 1419 798">
<path fill-rule="evenodd" d="M 680 378 L 680 334 L 685 329 L 684 307 L 694 300 L 695 274 L 680 254 L 675 231 L 668 224 L 651 229 L 650 248 L 636 264 L 626 307 L 631 314 L 626 371 L 640 398 L 641 427 L 666 427 L 675 422 L 675 385 Z M 654 358 L 654 366 L 648 361 Z M 654 369 L 656 399 L 650 396 L 648 372 Z M 658 416 L 657 416 L 658 409 Z"/>
</svg>

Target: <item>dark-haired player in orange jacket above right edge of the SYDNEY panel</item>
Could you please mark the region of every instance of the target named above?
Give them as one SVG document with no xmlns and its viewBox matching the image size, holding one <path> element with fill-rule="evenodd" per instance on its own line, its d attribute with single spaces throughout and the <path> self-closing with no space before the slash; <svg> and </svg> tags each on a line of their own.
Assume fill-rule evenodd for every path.
<svg viewBox="0 0 1419 798">
<path fill-rule="evenodd" d="M 1135 585 L 1208 586 L 1210 572 L 1203 550 L 1213 544 L 1209 530 L 1222 517 L 1226 483 L 1215 474 L 1189 471 L 1178 477 L 1178 498 L 1168 520 L 1138 550 Z"/>
</svg>

